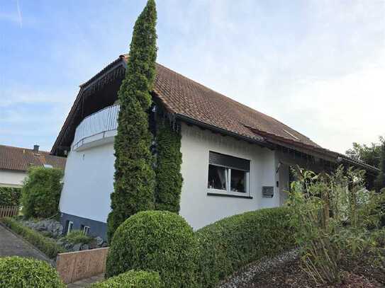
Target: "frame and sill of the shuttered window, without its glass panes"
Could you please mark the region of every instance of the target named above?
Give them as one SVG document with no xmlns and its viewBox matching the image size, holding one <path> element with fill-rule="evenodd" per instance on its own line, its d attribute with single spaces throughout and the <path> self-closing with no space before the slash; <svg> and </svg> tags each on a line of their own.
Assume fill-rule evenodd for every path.
<svg viewBox="0 0 385 288">
<path fill-rule="evenodd" d="M 215 152 L 215 151 L 209 151 L 209 154 L 210 152 L 213 152 L 213 153 L 218 153 L 218 154 L 223 154 L 223 153 L 220 153 L 220 152 Z M 225 173 L 227 174 L 227 183 L 226 183 L 226 190 L 221 190 L 221 189 L 216 189 L 216 188 L 209 188 L 208 185 L 206 184 L 206 187 L 207 187 L 207 190 L 208 190 L 208 195 L 218 195 L 218 196 L 230 196 L 230 197 L 243 197 L 243 198 L 249 198 L 249 199 L 252 199 L 252 197 L 250 196 L 251 195 L 251 185 L 250 185 L 250 173 L 252 172 L 252 161 L 250 159 L 245 159 L 245 158 L 241 158 L 241 157 L 238 157 L 238 156 L 232 156 L 232 155 L 229 155 L 229 154 L 223 154 L 225 156 L 230 156 L 230 157 L 235 157 L 235 158 L 240 158 L 240 159 L 244 159 L 244 160 L 247 160 L 250 162 L 250 169 L 249 171 L 245 171 L 245 170 L 242 170 L 240 168 L 235 168 L 235 167 L 230 167 L 230 166 L 224 166 L 224 165 L 221 165 L 221 164 L 213 164 L 213 163 L 210 163 L 210 161 L 208 161 L 208 165 L 207 165 L 207 180 L 206 180 L 206 183 L 208 183 L 208 166 L 217 166 L 217 167 L 221 167 L 221 168 L 225 168 Z M 234 169 L 234 170 L 238 170 L 238 171 L 243 171 L 246 173 L 246 187 L 245 187 L 245 192 L 236 192 L 236 191 L 232 191 L 231 190 L 231 170 Z"/>
</svg>

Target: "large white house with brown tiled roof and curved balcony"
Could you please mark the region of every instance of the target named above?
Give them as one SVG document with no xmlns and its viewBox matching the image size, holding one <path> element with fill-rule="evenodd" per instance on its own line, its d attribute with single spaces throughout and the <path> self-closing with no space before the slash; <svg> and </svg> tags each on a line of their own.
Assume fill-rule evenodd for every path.
<svg viewBox="0 0 385 288">
<path fill-rule="evenodd" d="M 52 154 L 67 155 L 60 199 L 67 229 L 106 235 L 119 109 L 114 103 L 127 61 L 121 55 L 80 86 L 52 147 Z M 160 64 L 152 96 L 150 126 L 156 126 L 154 115 L 165 111 L 182 134 L 180 214 L 194 229 L 233 214 L 282 205 L 293 165 L 330 171 L 345 163 L 378 173 Z"/>
</svg>

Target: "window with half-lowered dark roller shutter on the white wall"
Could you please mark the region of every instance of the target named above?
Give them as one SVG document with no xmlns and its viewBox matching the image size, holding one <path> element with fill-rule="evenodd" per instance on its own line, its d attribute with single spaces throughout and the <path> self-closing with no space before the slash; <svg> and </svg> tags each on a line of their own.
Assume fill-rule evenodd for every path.
<svg viewBox="0 0 385 288">
<path fill-rule="evenodd" d="M 249 178 L 250 160 L 209 152 L 207 186 L 213 192 L 249 195 Z"/>
</svg>

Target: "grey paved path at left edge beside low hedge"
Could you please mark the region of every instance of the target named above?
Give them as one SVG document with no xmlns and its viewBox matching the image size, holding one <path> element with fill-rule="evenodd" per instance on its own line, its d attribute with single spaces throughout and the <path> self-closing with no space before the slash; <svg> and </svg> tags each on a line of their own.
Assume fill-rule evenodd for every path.
<svg viewBox="0 0 385 288">
<path fill-rule="evenodd" d="M 52 263 L 43 253 L 34 248 L 30 243 L 16 236 L 0 224 L 0 257 L 4 256 L 32 257 Z"/>
</svg>

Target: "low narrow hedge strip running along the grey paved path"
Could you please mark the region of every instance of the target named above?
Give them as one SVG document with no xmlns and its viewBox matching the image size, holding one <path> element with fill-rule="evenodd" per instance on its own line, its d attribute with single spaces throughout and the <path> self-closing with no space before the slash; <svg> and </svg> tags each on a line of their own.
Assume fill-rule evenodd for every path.
<svg viewBox="0 0 385 288">
<path fill-rule="evenodd" d="M 23 226 L 15 219 L 3 218 L 1 221 L 3 221 L 3 223 L 12 231 L 15 231 L 16 234 L 21 235 L 26 241 L 45 253 L 49 258 L 55 258 L 57 253 L 65 252 L 65 248 L 57 245 L 52 239 L 41 235 L 33 229 Z"/>
</svg>

